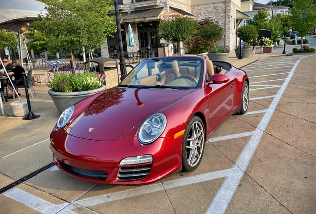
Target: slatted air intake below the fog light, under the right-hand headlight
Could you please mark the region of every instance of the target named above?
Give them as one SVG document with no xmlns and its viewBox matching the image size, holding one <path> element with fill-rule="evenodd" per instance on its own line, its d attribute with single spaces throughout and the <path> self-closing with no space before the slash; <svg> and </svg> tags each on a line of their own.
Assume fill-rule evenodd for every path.
<svg viewBox="0 0 316 214">
<path fill-rule="evenodd" d="M 117 180 L 139 180 L 145 178 L 152 169 L 152 165 L 121 167 L 117 174 Z"/>
</svg>

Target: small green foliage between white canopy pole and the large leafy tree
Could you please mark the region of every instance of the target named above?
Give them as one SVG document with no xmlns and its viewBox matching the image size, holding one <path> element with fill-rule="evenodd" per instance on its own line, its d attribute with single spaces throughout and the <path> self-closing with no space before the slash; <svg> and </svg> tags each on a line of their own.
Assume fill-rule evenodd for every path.
<svg viewBox="0 0 316 214">
<path fill-rule="evenodd" d="M 25 38 L 31 40 L 26 43 L 26 46 L 29 50 L 33 50 L 35 54 L 47 51 L 47 37 L 40 31 L 31 28 L 25 35 Z"/>
</svg>

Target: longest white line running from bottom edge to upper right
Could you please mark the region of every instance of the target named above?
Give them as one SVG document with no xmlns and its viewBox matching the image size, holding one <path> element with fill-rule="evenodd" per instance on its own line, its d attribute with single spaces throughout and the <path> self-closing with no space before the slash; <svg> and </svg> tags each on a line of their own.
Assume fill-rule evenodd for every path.
<svg viewBox="0 0 316 214">
<path fill-rule="evenodd" d="M 267 109 L 267 111 L 263 115 L 260 123 L 258 124 L 258 127 L 255 130 L 255 133 L 251 136 L 250 140 L 248 141 L 248 143 L 246 144 L 246 146 L 243 148 L 242 152 L 240 153 L 238 159 L 236 160 L 236 163 L 235 163 L 236 165 L 234 165 L 233 168 L 244 166 L 246 169 L 247 165 L 249 164 L 262 138 L 262 135 L 267 125 L 270 122 L 270 119 L 274 113 L 275 108 L 277 107 L 286 87 L 288 86 L 288 83 L 290 82 L 294 74 L 294 71 L 297 65 L 303 58 L 305 57 L 302 57 L 301 59 L 299 59 L 293 66 L 287 79 L 284 81 L 282 87 L 280 88 L 275 98 L 273 99 L 270 107 Z M 229 176 L 225 179 L 220 190 L 217 192 L 212 204 L 210 205 L 208 211 L 206 212 L 207 214 L 224 214 L 225 213 L 227 206 L 229 205 L 229 203 L 232 200 L 233 195 L 235 194 L 235 190 L 237 189 L 237 186 L 242 176 L 243 176 L 243 173 L 240 173 L 237 175 Z"/>
</svg>

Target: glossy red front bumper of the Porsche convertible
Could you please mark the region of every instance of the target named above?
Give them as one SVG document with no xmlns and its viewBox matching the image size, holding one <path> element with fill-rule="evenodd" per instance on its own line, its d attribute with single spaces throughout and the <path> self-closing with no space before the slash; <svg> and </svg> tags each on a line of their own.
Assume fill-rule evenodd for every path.
<svg viewBox="0 0 316 214">
<path fill-rule="evenodd" d="M 181 170 L 182 137 L 158 138 L 141 145 L 137 136 L 116 141 L 95 141 L 68 135 L 65 130 L 51 133 L 50 148 L 55 164 L 65 173 L 86 181 L 141 185 L 161 180 Z M 120 165 L 124 158 L 152 155 L 148 163 Z"/>
</svg>

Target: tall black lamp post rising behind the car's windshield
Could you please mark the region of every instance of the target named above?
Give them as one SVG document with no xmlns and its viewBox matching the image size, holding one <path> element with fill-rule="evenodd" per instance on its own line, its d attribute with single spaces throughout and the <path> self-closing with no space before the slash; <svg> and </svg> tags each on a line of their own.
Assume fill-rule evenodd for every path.
<svg viewBox="0 0 316 214">
<path fill-rule="evenodd" d="M 122 34 L 121 34 L 121 23 L 120 23 L 120 13 L 118 10 L 118 0 L 114 0 L 114 10 L 115 10 L 115 19 L 116 19 L 116 29 L 117 29 L 117 40 L 118 40 L 118 51 L 120 55 L 120 70 L 121 76 L 127 74 L 126 72 L 126 61 L 123 54 L 123 42 L 122 42 Z"/>
</svg>

